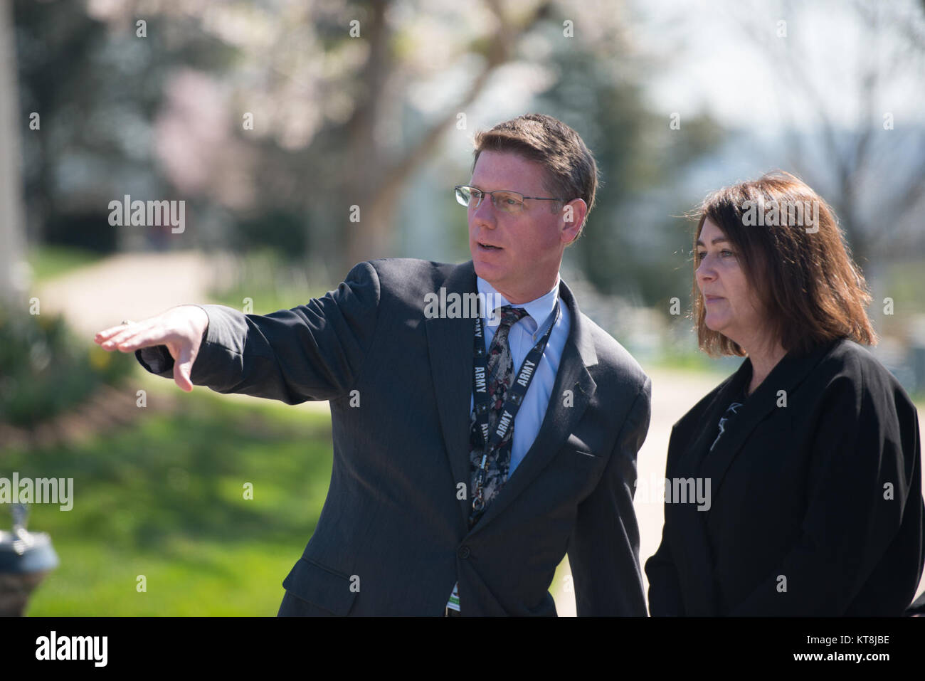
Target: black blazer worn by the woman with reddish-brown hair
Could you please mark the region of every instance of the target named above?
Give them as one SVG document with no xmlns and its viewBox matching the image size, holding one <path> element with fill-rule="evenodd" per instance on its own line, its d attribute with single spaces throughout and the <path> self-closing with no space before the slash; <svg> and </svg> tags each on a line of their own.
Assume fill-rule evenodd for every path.
<svg viewBox="0 0 925 681">
<path fill-rule="evenodd" d="M 788 353 L 709 452 L 751 372 L 746 359 L 672 428 L 666 488 L 702 478 L 709 501 L 666 496 L 649 612 L 902 614 L 925 563 L 919 416 L 906 391 L 853 341 Z"/>
</svg>

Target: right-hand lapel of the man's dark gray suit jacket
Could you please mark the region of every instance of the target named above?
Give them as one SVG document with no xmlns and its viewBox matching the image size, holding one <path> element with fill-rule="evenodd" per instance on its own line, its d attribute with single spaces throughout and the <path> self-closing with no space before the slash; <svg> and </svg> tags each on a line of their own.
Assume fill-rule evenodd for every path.
<svg viewBox="0 0 925 681">
<path fill-rule="evenodd" d="M 549 406 L 547 407 L 546 415 L 539 427 L 539 432 L 536 434 L 536 440 L 524 454 L 524 460 L 518 464 L 513 475 L 508 478 L 508 481 L 500 489 L 494 500 L 488 504 L 485 514 L 482 515 L 478 524 L 472 529 L 472 533 L 478 532 L 496 516 L 503 513 L 504 509 L 549 464 L 585 413 L 587 404 L 597 388 L 594 378 L 591 378 L 591 374 L 587 370 L 588 366 L 598 364 L 598 353 L 594 349 L 594 340 L 582 325 L 581 313 L 578 310 L 578 304 L 575 303 L 572 291 L 561 279 L 559 294 L 562 303 L 565 303 L 568 307 L 571 316 L 571 327 L 569 337 L 565 341 L 562 351 L 559 370 L 556 372 L 556 380 L 549 395 Z M 561 399 L 561 395 L 566 389 L 573 391 L 573 404 L 570 407 L 564 406 Z M 467 400 L 470 392 L 471 389 L 465 391 Z M 468 402 L 466 406 L 468 407 Z M 466 426 L 468 427 L 468 420 L 466 421 Z M 514 419 L 514 427 L 517 427 L 516 418 Z M 468 439 L 466 443 L 468 443 Z M 465 456 L 465 464 L 468 471 L 468 451 Z M 469 504 L 466 504 L 467 514 L 468 508 Z"/>
</svg>

